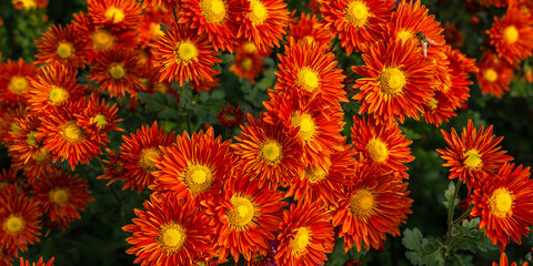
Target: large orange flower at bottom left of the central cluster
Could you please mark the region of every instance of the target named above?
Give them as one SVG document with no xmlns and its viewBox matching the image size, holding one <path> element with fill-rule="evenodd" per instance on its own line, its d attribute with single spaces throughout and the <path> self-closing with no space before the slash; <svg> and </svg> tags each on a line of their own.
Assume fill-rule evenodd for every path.
<svg viewBox="0 0 533 266">
<path fill-rule="evenodd" d="M 141 265 L 193 265 L 211 257 L 212 227 L 204 212 L 175 194 L 151 195 L 144 209 L 134 209 L 138 218 L 122 227 L 133 233 L 125 241 L 133 245 L 127 253 L 134 254 L 133 263 Z"/>
</svg>

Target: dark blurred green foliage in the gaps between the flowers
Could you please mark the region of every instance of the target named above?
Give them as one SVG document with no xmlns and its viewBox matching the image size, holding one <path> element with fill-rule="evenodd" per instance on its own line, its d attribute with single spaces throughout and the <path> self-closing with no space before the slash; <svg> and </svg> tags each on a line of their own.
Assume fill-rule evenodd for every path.
<svg viewBox="0 0 533 266">
<path fill-rule="evenodd" d="M 309 12 L 306 0 L 288 0 L 289 9 Z M 492 27 L 494 16 L 504 13 L 504 9 L 484 8 L 473 6 L 475 9 L 465 9 L 471 1 L 464 0 L 425 0 L 430 12 L 435 16 L 435 20 L 442 25 L 454 23 L 455 30 L 450 34 L 462 34 L 464 42 L 460 48 L 463 53 L 470 58 L 481 59 L 486 47 L 486 38 L 482 33 Z M 66 24 L 73 19 L 74 12 L 87 11 L 83 0 L 52 0 L 46 9 L 16 10 L 11 1 L 0 1 L 0 51 L 2 59 L 23 58 L 31 62 L 37 52 L 34 40 L 40 38 L 40 33 L 54 23 Z M 476 18 L 476 19 L 473 19 Z M 446 31 L 447 32 L 447 31 Z M 461 32 L 461 33 L 459 33 Z M 457 37 L 455 35 L 455 39 Z M 450 41 L 450 40 L 449 40 Z M 454 43 L 455 44 L 455 43 Z M 461 44 L 461 43 L 459 43 Z M 281 49 L 275 49 L 281 52 Z M 274 51 L 274 52 L 275 52 Z M 275 53 L 265 59 L 265 71 L 262 73 L 255 84 L 241 80 L 232 74 L 228 69 L 231 65 L 233 55 L 222 54 L 220 70 L 221 85 L 214 88 L 211 92 L 192 92 L 189 88 L 173 86 L 178 90 L 180 99 L 155 93 L 139 94 L 139 99 L 145 104 L 144 108 L 137 110 L 128 109 L 129 99 L 119 102 L 119 116 L 124 121 L 120 124 L 124 132 L 111 132 L 111 143 L 109 147 L 118 150 L 122 143 L 122 134 L 134 133 L 141 125 L 151 124 L 158 120 L 165 126 L 167 131 L 177 131 L 181 133 L 187 129 L 187 121 L 183 111 L 192 114 L 191 125 L 193 131 L 198 131 L 204 125 L 213 125 L 218 134 L 224 137 L 234 136 L 238 130 L 227 132 L 225 129 L 217 125 L 215 113 L 219 113 L 227 102 L 233 105 L 241 105 L 244 113 L 251 113 L 258 116 L 262 109 L 262 102 L 268 100 L 266 90 L 273 88 L 278 59 Z M 341 68 L 349 69 L 354 64 L 361 64 L 361 58 L 353 54 L 350 58 L 342 55 L 339 58 Z M 524 63 L 529 63 L 527 60 Z M 80 82 L 87 82 L 84 75 L 88 70 L 80 73 Z M 348 73 L 346 73 L 348 74 Z M 511 92 L 504 94 L 502 99 L 490 95 L 482 95 L 479 86 L 475 84 L 475 76 L 471 76 L 474 85 L 471 86 L 471 98 L 467 106 L 462 110 L 456 117 L 452 117 L 450 123 L 444 123 L 441 129 L 450 131 L 454 127 L 461 131 L 466 126 L 469 119 L 472 119 L 474 125 L 485 126 L 494 125 L 494 134 L 505 136 L 503 149 L 514 156 L 516 164 L 531 166 L 533 162 L 533 85 L 520 79 L 512 83 Z M 181 104 L 181 106 L 178 105 Z M 358 106 L 354 102 L 343 104 L 345 111 L 344 135 L 350 134 L 351 117 L 356 114 Z M 409 164 L 411 197 L 414 200 L 413 214 L 409 215 L 405 228 L 418 228 L 424 237 L 442 237 L 446 231 L 446 208 L 442 204 L 445 202 L 444 191 L 449 186 L 447 168 L 441 166 L 443 161 L 439 157 L 435 149 L 445 147 L 440 130 L 433 125 L 425 124 L 423 121 L 408 120 L 401 125 L 402 131 L 413 141 L 411 145 L 415 161 Z M 2 167 L 9 167 L 10 162 L 7 157 L 4 147 L 1 150 Z M 41 242 L 29 248 L 28 253 L 21 256 L 37 259 L 43 256 L 46 259 L 56 257 L 56 265 L 131 265 L 134 256 L 125 254 L 129 245 L 125 238 L 129 233 L 121 229 L 122 226 L 130 224 L 134 216 L 133 209 L 141 208 L 141 204 L 149 197 L 148 190 L 141 194 L 137 191 L 121 191 L 121 184 L 111 184 L 105 186 L 104 181 L 97 181 L 94 177 L 102 174 L 103 164 L 101 158 L 91 161 L 89 165 L 77 167 L 76 173 L 89 181 L 94 202 L 88 204 L 82 218 L 73 222 L 64 232 L 60 228 L 52 229 L 49 235 L 41 236 Z M 70 168 L 67 164 L 66 168 Z M 461 197 L 464 197 L 464 190 Z M 416 239 L 416 231 L 410 231 Z M 43 233 L 44 234 L 44 233 Z M 419 238 L 421 239 L 421 238 Z M 485 239 L 486 241 L 486 239 Z M 511 244 L 506 248 L 510 260 L 524 260 L 527 253 L 531 252 L 533 237 L 524 241 L 522 245 Z M 338 245 L 333 254 L 329 255 L 326 265 L 344 265 L 349 259 L 356 258 L 369 265 L 410 265 L 405 255 L 405 247 L 402 245 L 402 237 L 389 237 L 383 250 L 362 250 L 356 253 L 350 250 L 348 254 Z M 472 254 L 465 250 L 459 252 L 457 256 L 451 259 L 451 264 L 462 265 L 487 265 L 496 262 L 500 257 L 497 249 L 489 244 L 486 252 Z"/>
</svg>

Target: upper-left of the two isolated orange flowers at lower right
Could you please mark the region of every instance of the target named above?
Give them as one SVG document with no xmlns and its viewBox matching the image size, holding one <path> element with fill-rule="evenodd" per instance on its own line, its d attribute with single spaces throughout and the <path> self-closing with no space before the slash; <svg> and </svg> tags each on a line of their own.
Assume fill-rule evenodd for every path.
<svg viewBox="0 0 533 266">
<path fill-rule="evenodd" d="M 505 155 L 506 151 L 496 146 L 503 136 L 492 135 L 492 129 L 491 125 L 484 131 L 482 125 L 477 131 L 469 120 L 469 127 L 463 127 L 461 137 L 454 129 L 451 134 L 441 130 L 447 147 L 436 151 L 446 161 L 442 165 L 450 167 L 450 180 L 459 177 L 469 188 L 475 188 L 485 173 L 495 174 L 504 163 L 513 161 L 513 157 Z"/>
</svg>

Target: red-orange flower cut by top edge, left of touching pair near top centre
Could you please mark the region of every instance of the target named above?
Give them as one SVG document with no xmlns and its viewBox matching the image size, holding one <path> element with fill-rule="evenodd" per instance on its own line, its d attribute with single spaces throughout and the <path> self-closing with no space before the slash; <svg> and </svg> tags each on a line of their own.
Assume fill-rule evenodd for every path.
<svg viewBox="0 0 533 266">
<path fill-rule="evenodd" d="M 207 34 L 214 50 L 233 53 L 239 0 L 181 0 L 180 6 L 178 23 L 198 28 L 198 34 Z"/>
</svg>

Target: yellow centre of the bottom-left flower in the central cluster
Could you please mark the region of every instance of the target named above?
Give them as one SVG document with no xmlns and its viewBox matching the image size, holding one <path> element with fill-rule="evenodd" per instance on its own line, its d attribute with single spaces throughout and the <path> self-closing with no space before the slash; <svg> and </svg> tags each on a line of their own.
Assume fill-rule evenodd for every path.
<svg viewBox="0 0 533 266">
<path fill-rule="evenodd" d="M 187 231 L 173 222 L 161 226 L 157 242 L 168 255 L 175 254 L 183 247 L 187 239 Z"/>
</svg>

